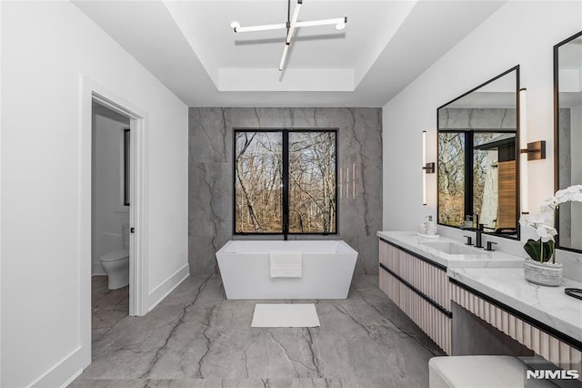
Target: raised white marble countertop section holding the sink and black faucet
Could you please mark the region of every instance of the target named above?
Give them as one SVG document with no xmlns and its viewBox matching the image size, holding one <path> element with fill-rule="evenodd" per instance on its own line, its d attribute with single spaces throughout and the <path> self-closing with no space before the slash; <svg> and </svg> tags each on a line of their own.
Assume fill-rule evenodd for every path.
<svg viewBox="0 0 582 388">
<path fill-rule="evenodd" d="M 475 234 L 471 232 L 471 235 Z M 464 245 L 463 241 L 440 237 L 438 239 L 420 237 L 414 231 L 384 230 L 377 236 L 406 250 L 415 252 L 428 260 L 433 260 L 447 268 L 523 268 L 524 259 L 498 250 L 484 250 Z M 448 254 L 430 247 L 435 242 L 454 243 L 453 247 L 466 250 L 464 254 Z M 460 247 L 459 247 L 460 246 Z"/>
</svg>

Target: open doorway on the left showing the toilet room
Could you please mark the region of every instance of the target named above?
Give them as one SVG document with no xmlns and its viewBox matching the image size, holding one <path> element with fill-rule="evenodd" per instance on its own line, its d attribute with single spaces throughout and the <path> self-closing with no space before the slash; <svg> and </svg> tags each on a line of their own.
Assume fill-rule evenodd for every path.
<svg viewBox="0 0 582 388">
<path fill-rule="evenodd" d="M 92 103 L 91 331 L 129 315 L 130 118 Z"/>
</svg>

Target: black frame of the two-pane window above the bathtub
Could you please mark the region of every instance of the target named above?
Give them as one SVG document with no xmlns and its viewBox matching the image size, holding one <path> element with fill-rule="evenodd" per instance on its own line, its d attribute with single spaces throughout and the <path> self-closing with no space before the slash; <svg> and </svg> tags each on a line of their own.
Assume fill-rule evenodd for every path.
<svg viewBox="0 0 582 388">
<path fill-rule="evenodd" d="M 281 232 L 237 232 L 236 231 L 236 135 L 242 132 L 276 132 L 282 134 L 282 231 Z M 333 132 L 335 134 L 335 152 L 336 152 L 336 182 L 335 182 L 335 200 L 336 200 L 336 217 L 334 223 L 335 232 L 290 232 L 289 231 L 289 133 L 301 132 Z M 339 197 L 338 197 L 338 159 L 339 159 L 339 128 L 233 128 L 233 235 L 235 236 L 280 236 L 284 240 L 287 236 L 336 236 L 339 234 Z"/>
</svg>

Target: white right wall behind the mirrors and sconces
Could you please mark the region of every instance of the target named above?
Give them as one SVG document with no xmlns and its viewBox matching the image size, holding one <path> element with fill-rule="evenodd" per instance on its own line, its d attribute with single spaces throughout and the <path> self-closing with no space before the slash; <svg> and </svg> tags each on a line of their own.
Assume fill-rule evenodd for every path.
<svg viewBox="0 0 582 388">
<path fill-rule="evenodd" d="M 508 2 L 386 104 L 385 230 L 416 230 L 426 214 L 437 213 L 437 174 L 428 175 L 429 202 L 423 207 L 420 168 L 423 130 L 429 145 L 427 161 L 437 161 L 437 107 L 516 65 L 520 86 L 527 87 L 529 139 L 547 142 L 547 158 L 528 163 L 530 210 L 553 194 L 552 49 L 581 29 L 582 2 Z M 523 255 L 521 244 L 504 240 L 502 245 Z"/>
</svg>

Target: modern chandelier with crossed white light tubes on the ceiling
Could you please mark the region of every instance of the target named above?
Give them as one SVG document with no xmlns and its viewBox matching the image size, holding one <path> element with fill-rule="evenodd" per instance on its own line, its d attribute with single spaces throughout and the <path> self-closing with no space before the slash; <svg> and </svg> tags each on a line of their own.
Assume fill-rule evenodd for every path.
<svg viewBox="0 0 582 388">
<path fill-rule="evenodd" d="M 279 23 L 276 25 L 262 25 L 262 26 L 246 26 L 241 27 L 238 22 L 232 22 L 230 27 L 235 31 L 235 33 L 240 32 L 255 32 L 255 31 L 267 31 L 276 29 L 287 29 L 287 35 L 285 38 L 285 46 L 283 47 L 283 56 L 281 56 L 281 62 L 279 62 L 279 71 L 283 71 L 285 66 L 287 51 L 289 51 L 289 46 L 291 45 L 291 38 L 293 33 L 295 33 L 298 27 L 312 27 L 312 26 L 326 26 L 326 25 L 336 25 L 336 30 L 341 31 L 346 28 L 347 16 L 336 17 L 334 19 L 322 19 L 322 20 L 312 20 L 309 22 L 298 22 L 299 11 L 301 11 L 301 5 L 303 0 L 297 0 L 297 5 L 293 10 L 293 16 L 291 15 L 291 0 L 287 0 L 287 21 L 286 23 Z"/>
</svg>

